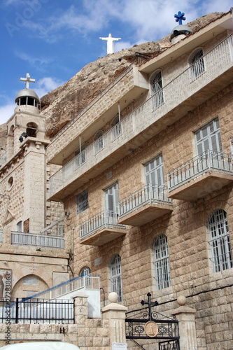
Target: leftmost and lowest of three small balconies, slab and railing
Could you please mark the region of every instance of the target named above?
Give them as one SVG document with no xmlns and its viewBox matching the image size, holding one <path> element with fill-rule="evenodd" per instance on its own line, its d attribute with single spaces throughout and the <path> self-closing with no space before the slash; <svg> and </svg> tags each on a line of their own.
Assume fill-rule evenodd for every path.
<svg viewBox="0 0 233 350">
<path fill-rule="evenodd" d="M 118 214 L 113 211 L 101 211 L 80 224 L 80 244 L 102 246 L 125 234 L 125 225 L 118 223 Z"/>
</svg>

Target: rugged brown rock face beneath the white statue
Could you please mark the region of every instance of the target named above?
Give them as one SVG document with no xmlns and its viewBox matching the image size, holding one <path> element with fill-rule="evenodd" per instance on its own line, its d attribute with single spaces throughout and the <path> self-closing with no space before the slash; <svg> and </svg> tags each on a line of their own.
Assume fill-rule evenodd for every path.
<svg viewBox="0 0 233 350">
<path fill-rule="evenodd" d="M 188 26 L 194 32 L 222 15 L 223 13 L 210 13 L 190 22 Z M 41 98 L 41 110 L 47 120 L 48 138 L 54 137 L 64 125 L 75 118 L 129 64 L 136 62 L 136 52 L 154 57 L 170 47 L 169 37 L 170 35 L 167 35 L 159 41 L 134 45 L 133 48 L 101 57 L 97 61 L 84 66 L 67 83 L 43 96 Z M 0 139 L 2 139 L 3 125 L 1 125 L 0 131 Z M 3 144 L 4 141 L 0 141 L 0 146 L 1 143 Z"/>
</svg>

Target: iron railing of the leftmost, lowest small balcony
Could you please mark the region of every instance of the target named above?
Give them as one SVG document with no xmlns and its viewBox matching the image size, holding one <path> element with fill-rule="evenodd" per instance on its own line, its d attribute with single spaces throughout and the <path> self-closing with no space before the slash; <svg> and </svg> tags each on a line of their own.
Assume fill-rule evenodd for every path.
<svg viewBox="0 0 233 350">
<path fill-rule="evenodd" d="M 118 223 L 118 214 L 114 211 L 101 211 L 101 213 L 80 224 L 80 239 L 93 235 L 101 228 L 125 228 L 125 225 Z"/>
</svg>

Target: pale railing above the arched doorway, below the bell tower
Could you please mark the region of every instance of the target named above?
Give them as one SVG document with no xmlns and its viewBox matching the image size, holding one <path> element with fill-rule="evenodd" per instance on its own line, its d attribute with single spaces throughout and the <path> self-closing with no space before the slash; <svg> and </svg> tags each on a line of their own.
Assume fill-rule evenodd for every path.
<svg viewBox="0 0 233 350">
<path fill-rule="evenodd" d="M 64 249 L 64 237 L 36 235 L 34 233 L 12 231 L 11 244 Z"/>
</svg>

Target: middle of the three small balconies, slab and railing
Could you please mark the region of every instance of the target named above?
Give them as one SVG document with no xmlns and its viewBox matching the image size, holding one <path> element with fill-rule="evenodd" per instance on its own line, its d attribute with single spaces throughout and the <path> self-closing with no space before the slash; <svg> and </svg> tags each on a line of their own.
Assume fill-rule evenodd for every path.
<svg viewBox="0 0 233 350">
<path fill-rule="evenodd" d="M 119 223 L 142 226 L 173 210 L 164 186 L 147 185 L 119 204 Z"/>
</svg>

